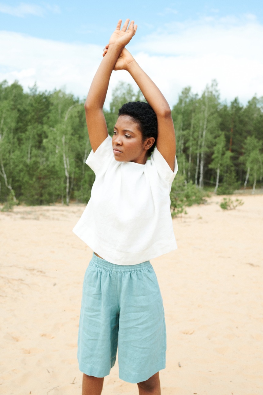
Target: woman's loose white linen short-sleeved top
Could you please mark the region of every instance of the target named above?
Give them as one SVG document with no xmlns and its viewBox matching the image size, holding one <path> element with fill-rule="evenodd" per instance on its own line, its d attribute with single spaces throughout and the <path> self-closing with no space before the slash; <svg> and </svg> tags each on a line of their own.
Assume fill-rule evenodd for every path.
<svg viewBox="0 0 263 395">
<path fill-rule="evenodd" d="M 169 196 L 176 158 L 174 172 L 157 148 L 146 164 L 118 162 L 108 136 L 86 164 L 96 179 L 73 232 L 96 254 L 135 265 L 177 248 Z"/>
</svg>

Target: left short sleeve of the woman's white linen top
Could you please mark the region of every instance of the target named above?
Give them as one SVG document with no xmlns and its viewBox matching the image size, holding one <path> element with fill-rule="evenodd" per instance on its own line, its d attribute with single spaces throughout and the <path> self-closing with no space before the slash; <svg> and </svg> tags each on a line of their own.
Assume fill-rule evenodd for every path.
<svg viewBox="0 0 263 395">
<path fill-rule="evenodd" d="M 95 175 L 101 172 L 105 172 L 114 158 L 111 136 L 108 137 L 101 143 L 101 145 L 96 149 L 90 151 L 88 158 L 86 159 L 86 164 L 94 171 Z"/>
</svg>

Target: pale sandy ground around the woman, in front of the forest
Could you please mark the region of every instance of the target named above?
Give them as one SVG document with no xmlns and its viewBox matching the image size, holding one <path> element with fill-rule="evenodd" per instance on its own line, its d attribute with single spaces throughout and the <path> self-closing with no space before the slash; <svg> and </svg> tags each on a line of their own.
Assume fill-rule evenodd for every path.
<svg viewBox="0 0 263 395">
<path fill-rule="evenodd" d="M 162 395 L 263 394 L 263 196 L 221 197 L 173 220 L 178 250 L 151 261 L 167 325 Z M 0 393 L 81 394 L 77 331 L 92 251 L 72 233 L 84 205 L 0 213 Z M 118 378 L 103 394 L 135 395 Z"/>
</svg>

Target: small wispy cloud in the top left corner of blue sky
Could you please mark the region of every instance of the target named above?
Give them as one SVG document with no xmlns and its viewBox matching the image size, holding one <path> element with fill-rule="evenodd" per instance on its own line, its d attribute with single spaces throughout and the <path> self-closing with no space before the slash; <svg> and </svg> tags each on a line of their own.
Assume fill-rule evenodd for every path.
<svg viewBox="0 0 263 395">
<path fill-rule="evenodd" d="M 8 6 L 7 4 L 0 3 L 0 12 L 13 15 L 15 17 L 24 18 L 26 15 L 35 15 L 38 17 L 43 17 L 46 10 L 53 13 L 59 13 L 60 9 L 56 5 L 50 5 L 48 3 L 43 3 L 43 7 L 37 4 L 26 4 L 20 3 L 18 6 Z"/>
</svg>

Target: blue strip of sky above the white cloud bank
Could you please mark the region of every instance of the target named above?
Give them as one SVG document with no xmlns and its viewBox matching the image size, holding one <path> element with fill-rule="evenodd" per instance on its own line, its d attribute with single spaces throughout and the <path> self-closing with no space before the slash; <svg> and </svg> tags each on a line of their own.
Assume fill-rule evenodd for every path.
<svg viewBox="0 0 263 395">
<path fill-rule="evenodd" d="M 140 36 L 171 22 L 226 15 L 256 15 L 263 22 L 263 2 L 257 1 L 0 1 L 0 29 L 64 42 L 104 45 L 118 19 L 134 19 Z M 12 15 L 13 14 L 13 15 Z"/>
</svg>

